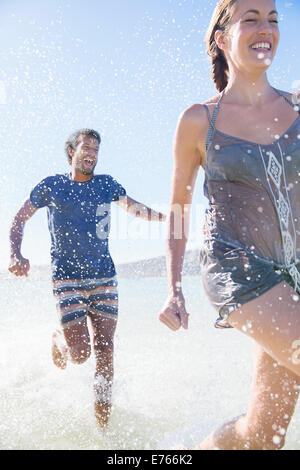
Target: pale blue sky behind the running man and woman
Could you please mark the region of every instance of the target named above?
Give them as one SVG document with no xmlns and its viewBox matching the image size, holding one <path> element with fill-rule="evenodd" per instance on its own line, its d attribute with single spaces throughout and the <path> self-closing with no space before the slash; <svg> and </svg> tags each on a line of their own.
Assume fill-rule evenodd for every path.
<svg viewBox="0 0 300 470">
<path fill-rule="evenodd" d="M 300 88 L 300 1 L 277 0 L 281 43 L 273 86 Z M 102 137 L 97 173 L 162 211 L 170 199 L 172 145 L 181 112 L 215 94 L 204 35 L 213 0 L 0 0 L 0 268 L 11 220 L 44 177 L 69 171 L 64 142 L 78 128 Z M 188 248 L 201 243 L 203 174 Z M 115 262 L 163 255 L 164 226 L 114 207 Z M 50 260 L 46 210 L 24 232 L 31 264 Z"/>
</svg>

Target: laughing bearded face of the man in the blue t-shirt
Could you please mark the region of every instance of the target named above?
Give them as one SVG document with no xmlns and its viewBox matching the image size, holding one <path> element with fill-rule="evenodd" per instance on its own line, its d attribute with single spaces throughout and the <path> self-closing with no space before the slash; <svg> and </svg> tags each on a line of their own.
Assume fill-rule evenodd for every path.
<svg viewBox="0 0 300 470">
<path fill-rule="evenodd" d="M 83 175 L 92 175 L 98 160 L 99 144 L 95 137 L 80 135 L 75 150 L 69 148 L 72 169 Z"/>
</svg>

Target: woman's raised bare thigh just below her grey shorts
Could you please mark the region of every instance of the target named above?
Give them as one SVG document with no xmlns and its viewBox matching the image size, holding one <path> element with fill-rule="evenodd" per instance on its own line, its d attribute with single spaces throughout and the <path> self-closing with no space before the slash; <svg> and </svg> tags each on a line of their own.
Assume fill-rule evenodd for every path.
<svg viewBox="0 0 300 470">
<path fill-rule="evenodd" d="M 285 282 L 232 312 L 228 322 L 300 376 L 300 298 Z"/>
</svg>

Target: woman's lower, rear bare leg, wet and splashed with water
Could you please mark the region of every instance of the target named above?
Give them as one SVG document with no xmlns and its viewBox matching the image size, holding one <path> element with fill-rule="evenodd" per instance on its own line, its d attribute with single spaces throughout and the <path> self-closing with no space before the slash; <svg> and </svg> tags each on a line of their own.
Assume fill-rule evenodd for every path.
<svg viewBox="0 0 300 470">
<path fill-rule="evenodd" d="M 213 432 L 198 449 L 281 449 L 299 388 L 299 377 L 278 365 L 255 343 L 253 386 L 247 413 Z"/>
</svg>

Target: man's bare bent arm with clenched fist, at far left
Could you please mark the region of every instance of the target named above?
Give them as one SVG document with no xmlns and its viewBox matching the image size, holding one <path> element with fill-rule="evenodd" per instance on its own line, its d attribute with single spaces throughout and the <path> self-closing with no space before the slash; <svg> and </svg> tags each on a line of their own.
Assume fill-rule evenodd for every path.
<svg viewBox="0 0 300 470">
<path fill-rule="evenodd" d="M 16 276 L 28 276 L 29 261 L 21 255 L 24 225 L 37 211 L 37 208 L 26 199 L 15 215 L 9 234 L 10 240 L 10 264 L 9 271 Z"/>
</svg>

